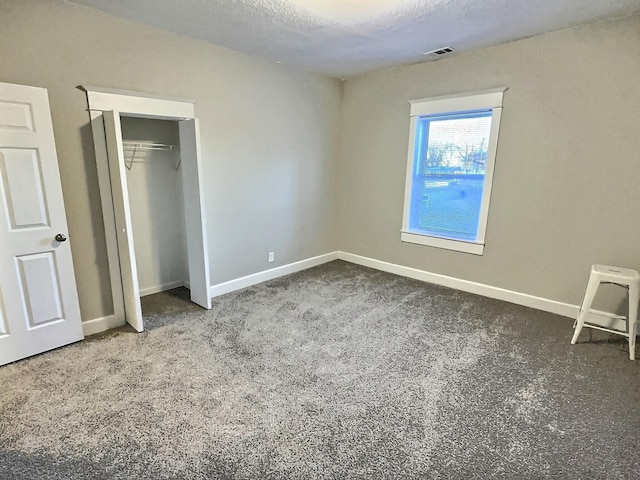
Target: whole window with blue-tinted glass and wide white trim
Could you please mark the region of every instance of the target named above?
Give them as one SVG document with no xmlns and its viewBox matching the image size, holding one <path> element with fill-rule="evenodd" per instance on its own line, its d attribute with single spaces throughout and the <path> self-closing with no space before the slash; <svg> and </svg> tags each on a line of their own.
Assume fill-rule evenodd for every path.
<svg viewBox="0 0 640 480">
<path fill-rule="evenodd" d="M 403 242 L 482 255 L 505 90 L 410 102 Z"/>
</svg>

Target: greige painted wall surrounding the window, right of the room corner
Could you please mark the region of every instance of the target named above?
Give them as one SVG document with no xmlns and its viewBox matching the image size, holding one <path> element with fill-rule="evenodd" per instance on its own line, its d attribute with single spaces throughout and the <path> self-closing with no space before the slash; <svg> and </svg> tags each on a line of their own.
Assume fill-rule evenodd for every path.
<svg viewBox="0 0 640 480">
<path fill-rule="evenodd" d="M 347 80 L 344 251 L 577 304 L 640 269 L 640 17 Z M 400 242 L 410 99 L 506 86 L 483 256 Z"/>
</svg>

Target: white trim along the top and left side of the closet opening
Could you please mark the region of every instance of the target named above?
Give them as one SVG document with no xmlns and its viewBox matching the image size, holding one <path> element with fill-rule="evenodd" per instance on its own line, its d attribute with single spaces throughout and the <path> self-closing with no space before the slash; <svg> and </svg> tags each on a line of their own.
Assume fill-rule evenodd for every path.
<svg viewBox="0 0 640 480">
<path fill-rule="evenodd" d="M 126 116 L 180 121 L 195 119 L 195 108 L 193 101 L 188 99 L 92 85 L 80 86 L 78 88 L 86 92 L 89 107 L 88 111 L 91 119 L 91 131 L 93 133 L 100 203 L 102 205 L 109 265 L 109 282 L 113 301 L 113 315 L 108 315 L 103 317 L 103 319 L 108 320 L 106 324 L 113 328 L 114 326 L 120 326 L 126 323 L 126 314 L 118 240 L 116 236 L 115 213 L 113 210 L 109 157 L 107 154 L 105 125 L 102 113 L 105 111 L 117 111 Z M 205 251 L 205 255 L 208 255 L 207 251 Z"/>
</svg>

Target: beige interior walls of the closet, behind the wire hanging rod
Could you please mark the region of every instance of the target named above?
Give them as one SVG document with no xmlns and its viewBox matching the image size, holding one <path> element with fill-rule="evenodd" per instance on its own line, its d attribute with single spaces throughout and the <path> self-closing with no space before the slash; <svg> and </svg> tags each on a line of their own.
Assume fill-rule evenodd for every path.
<svg viewBox="0 0 640 480">
<path fill-rule="evenodd" d="M 121 123 L 138 282 L 145 296 L 186 285 L 189 278 L 180 137 L 175 121 L 122 117 Z"/>
</svg>

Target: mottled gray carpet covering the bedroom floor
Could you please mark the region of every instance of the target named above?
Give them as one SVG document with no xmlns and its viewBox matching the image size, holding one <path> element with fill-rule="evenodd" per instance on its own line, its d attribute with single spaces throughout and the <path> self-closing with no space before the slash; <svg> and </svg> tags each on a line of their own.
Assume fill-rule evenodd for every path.
<svg viewBox="0 0 640 480">
<path fill-rule="evenodd" d="M 340 261 L 146 301 L 0 368 L 0 478 L 640 476 L 622 337 Z"/>
</svg>

